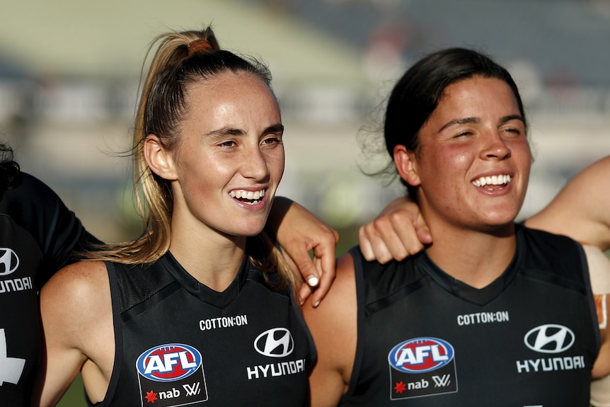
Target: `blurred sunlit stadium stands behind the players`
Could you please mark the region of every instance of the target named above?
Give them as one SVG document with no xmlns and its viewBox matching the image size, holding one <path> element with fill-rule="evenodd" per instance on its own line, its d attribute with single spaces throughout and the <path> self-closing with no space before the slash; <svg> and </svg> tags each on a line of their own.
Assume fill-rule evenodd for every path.
<svg viewBox="0 0 610 407">
<path fill-rule="evenodd" d="M 280 195 L 341 233 L 401 194 L 362 175 L 357 134 L 406 67 L 439 47 L 509 68 L 534 147 L 521 216 L 610 154 L 610 0 L 1 0 L 0 139 L 100 239 L 138 234 L 130 161 L 139 74 L 166 30 L 212 23 L 221 46 L 263 59 L 285 132 Z M 609 174 L 610 176 L 610 174 Z M 74 386 L 62 406 L 84 406 Z"/>
</svg>

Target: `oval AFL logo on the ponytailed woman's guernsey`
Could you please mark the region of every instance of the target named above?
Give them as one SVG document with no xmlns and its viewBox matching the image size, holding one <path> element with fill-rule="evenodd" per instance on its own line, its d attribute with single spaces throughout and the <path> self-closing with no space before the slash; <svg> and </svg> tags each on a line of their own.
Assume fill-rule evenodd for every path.
<svg viewBox="0 0 610 407">
<path fill-rule="evenodd" d="M 171 343 L 146 350 L 138 357 L 136 368 L 142 376 L 155 382 L 174 382 L 195 373 L 201 362 L 197 349 Z"/>
</svg>

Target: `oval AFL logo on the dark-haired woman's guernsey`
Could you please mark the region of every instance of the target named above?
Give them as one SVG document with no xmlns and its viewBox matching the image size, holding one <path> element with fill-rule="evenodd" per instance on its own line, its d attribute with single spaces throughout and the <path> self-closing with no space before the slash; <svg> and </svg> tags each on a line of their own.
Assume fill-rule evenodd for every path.
<svg viewBox="0 0 610 407">
<path fill-rule="evenodd" d="M 413 338 L 394 346 L 388 355 L 390 365 L 401 372 L 431 372 L 447 365 L 454 348 L 439 338 Z"/>
</svg>

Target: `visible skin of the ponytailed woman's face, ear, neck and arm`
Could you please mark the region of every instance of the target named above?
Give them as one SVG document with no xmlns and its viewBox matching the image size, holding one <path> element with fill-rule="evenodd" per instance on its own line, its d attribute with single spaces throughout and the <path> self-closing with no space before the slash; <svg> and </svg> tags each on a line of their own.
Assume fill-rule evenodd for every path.
<svg viewBox="0 0 610 407">
<path fill-rule="evenodd" d="M 154 134 L 144 151 L 152 171 L 171 181 L 172 255 L 188 273 L 222 291 L 243 262 L 246 236 L 260 233 L 284 171 L 277 101 L 258 77 L 224 72 L 188 86 L 178 147 Z M 265 190 L 257 205 L 231 190 Z M 60 270 L 40 294 L 47 374 L 40 405 L 54 405 L 81 370 L 88 398 L 102 401 L 115 360 L 113 309 L 105 264 Z M 68 328 L 66 328 L 68 327 Z"/>
</svg>

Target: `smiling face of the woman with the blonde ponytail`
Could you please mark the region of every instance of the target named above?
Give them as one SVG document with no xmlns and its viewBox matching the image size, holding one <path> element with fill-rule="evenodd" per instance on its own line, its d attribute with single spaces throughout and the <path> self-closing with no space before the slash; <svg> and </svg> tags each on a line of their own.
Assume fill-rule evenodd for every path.
<svg viewBox="0 0 610 407">
<path fill-rule="evenodd" d="M 284 171 L 275 96 L 251 74 L 225 72 L 190 86 L 187 105 L 173 159 L 173 213 L 179 222 L 174 228 L 197 225 L 232 236 L 260 233 Z M 264 189 L 265 197 L 259 205 L 247 205 L 229 195 L 235 189 Z"/>
</svg>

